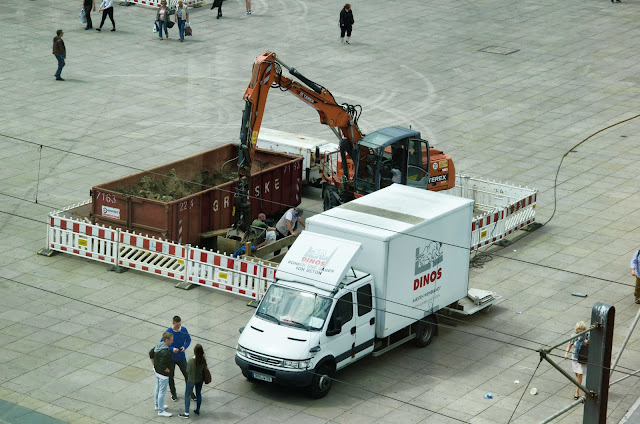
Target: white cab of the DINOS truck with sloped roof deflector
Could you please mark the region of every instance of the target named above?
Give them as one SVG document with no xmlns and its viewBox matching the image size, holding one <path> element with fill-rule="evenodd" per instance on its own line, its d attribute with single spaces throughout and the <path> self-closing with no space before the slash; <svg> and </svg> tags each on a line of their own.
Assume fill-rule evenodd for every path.
<svg viewBox="0 0 640 424">
<path fill-rule="evenodd" d="M 238 340 L 249 380 L 325 396 L 335 371 L 373 351 L 373 277 L 351 269 L 361 244 L 303 232 Z"/>
</svg>

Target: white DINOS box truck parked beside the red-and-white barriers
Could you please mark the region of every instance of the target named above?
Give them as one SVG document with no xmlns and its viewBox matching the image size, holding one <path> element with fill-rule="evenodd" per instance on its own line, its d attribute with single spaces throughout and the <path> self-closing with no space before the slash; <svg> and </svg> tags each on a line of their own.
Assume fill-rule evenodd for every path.
<svg viewBox="0 0 640 424">
<path fill-rule="evenodd" d="M 236 364 L 250 379 L 325 396 L 334 373 L 415 339 L 467 296 L 473 201 L 393 184 L 307 219 Z"/>
</svg>

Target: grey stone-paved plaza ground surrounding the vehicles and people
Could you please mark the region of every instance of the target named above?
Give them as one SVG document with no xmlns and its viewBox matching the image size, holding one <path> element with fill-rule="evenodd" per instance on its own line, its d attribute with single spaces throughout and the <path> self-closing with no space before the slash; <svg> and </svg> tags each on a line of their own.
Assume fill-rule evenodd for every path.
<svg viewBox="0 0 640 424">
<path fill-rule="evenodd" d="M 227 0 L 217 20 L 209 3 L 191 9 L 193 37 L 180 43 L 176 28 L 159 41 L 155 11 L 140 5 L 116 1 L 117 31 L 97 32 L 79 22 L 80 0 L 0 0 L 0 423 L 178 421 L 182 377 L 180 401 L 166 398 L 174 416 L 158 417 L 147 355 L 176 314 L 213 374 L 191 417 L 202 423 L 538 423 L 573 402 L 573 387 L 544 361 L 536 369 L 536 349 L 566 339 L 600 301 L 616 308 L 619 351 L 640 306 L 629 275 L 640 248 L 640 2 L 354 0 L 351 45 L 339 40 L 342 5 L 253 0 L 246 16 L 243 0 Z M 53 76 L 57 29 L 64 82 Z M 411 126 L 458 173 L 537 188 L 537 220 L 551 218 L 471 269 L 470 286 L 501 303 L 441 327 L 425 349 L 338 372 L 315 401 L 240 374 L 247 299 L 36 255 L 48 213 L 87 200 L 93 185 L 237 142 L 265 50 L 361 105 L 363 132 Z M 554 203 L 561 158 L 611 125 L 566 155 Z M 332 137 L 275 89 L 263 127 Z M 320 212 L 317 191 L 306 195 Z M 640 368 L 639 335 L 614 380 Z M 563 354 L 554 359 L 570 372 Z M 638 380 L 611 387 L 608 422 L 636 403 Z M 582 408 L 555 422 L 581 423 Z"/>
</svg>

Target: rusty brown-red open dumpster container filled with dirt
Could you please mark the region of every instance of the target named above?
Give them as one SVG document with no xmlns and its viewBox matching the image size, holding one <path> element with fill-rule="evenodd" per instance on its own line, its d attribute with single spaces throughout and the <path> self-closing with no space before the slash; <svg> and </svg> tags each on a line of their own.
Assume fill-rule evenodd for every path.
<svg viewBox="0 0 640 424">
<path fill-rule="evenodd" d="M 234 223 L 237 156 L 237 145 L 231 143 L 94 186 L 91 221 L 197 245 L 202 233 Z M 260 212 L 275 216 L 300 204 L 302 161 L 301 156 L 256 149 L 250 193 L 254 219 Z M 153 193 L 156 185 L 160 193 Z M 168 195 L 176 187 L 176 193 L 188 194 Z"/>
</svg>

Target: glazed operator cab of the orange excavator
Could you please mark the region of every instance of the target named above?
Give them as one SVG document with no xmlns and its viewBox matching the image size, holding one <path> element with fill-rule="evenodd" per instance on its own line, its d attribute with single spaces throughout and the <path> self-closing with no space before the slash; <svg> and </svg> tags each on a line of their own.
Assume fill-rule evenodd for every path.
<svg viewBox="0 0 640 424">
<path fill-rule="evenodd" d="M 387 127 L 367 134 L 358 143 L 353 184 L 365 195 L 391 184 L 427 189 L 429 145 L 418 131 Z M 423 156 L 426 154 L 426 158 Z M 426 160 L 425 160 L 426 159 Z"/>
</svg>

